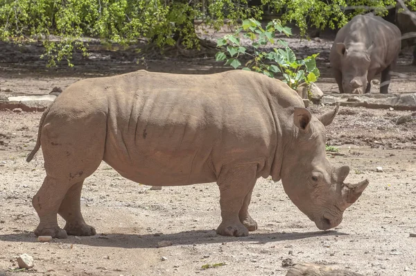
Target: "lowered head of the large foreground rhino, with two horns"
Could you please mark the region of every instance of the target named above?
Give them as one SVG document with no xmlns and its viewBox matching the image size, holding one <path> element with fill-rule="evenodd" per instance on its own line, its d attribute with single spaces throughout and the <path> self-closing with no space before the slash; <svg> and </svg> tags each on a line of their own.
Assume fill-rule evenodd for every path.
<svg viewBox="0 0 416 276">
<path fill-rule="evenodd" d="M 345 209 L 368 184 L 368 180 L 345 183 L 349 166 L 335 168 L 326 157 L 324 126 L 332 122 L 336 112 L 338 106 L 314 117 L 306 108 L 295 107 L 294 126 L 288 128 L 292 137 L 286 144 L 281 166 L 281 181 L 288 197 L 320 230 L 339 225 Z"/>
</svg>

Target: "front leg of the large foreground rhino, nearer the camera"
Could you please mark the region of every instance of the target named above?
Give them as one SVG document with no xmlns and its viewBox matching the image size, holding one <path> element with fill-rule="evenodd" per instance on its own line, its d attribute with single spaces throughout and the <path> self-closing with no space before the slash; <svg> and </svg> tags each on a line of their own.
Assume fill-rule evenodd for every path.
<svg viewBox="0 0 416 276">
<path fill-rule="evenodd" d="M 252 189 L 256 184 L 256 173 L 257 164 L 244 164 L 221 170 L 217 183 L 220 188 L 223 221 L 217 228 L 218 234 L 248 236 L 248 228 L 241 223 L 239 214 L 243 210 L 242 214 L 248 215 L 247 209 Z"/>
</svg>

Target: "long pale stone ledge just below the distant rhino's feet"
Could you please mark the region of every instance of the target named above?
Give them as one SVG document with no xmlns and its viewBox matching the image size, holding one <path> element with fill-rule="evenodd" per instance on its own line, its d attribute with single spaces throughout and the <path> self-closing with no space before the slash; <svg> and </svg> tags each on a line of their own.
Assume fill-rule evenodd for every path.
<svg viewBox="0 0 416 276">
<path fill-rule="evenodd" d="M 325 105 L 340 103 L 349 107 L 394 108 L 416 110 L 416 93 L 411 94 L 327 94 L 322 98 Z"/>
</svg>

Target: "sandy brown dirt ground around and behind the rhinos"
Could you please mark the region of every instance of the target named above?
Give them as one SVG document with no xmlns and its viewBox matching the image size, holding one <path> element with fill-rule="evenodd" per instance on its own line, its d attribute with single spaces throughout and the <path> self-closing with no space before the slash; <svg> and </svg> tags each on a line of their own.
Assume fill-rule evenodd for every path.
<svg viewBox="0 0 416 276">
<path fill-rule="evenodd" d="M 218 35 L 218 34 L 217 34 Z M 337 87 L 329 69 L 333 35 L 290 40 L 297 55 L 319 52 L 325 93 Z M 7 94 L 48 94 L 82 78 L 137 69 L 135 51 L 98 49 L 76 55 L 76 67 L 46 69 L 38 45 L 0 43 L 0 89 Z M 407 51 L 399 59 L 390 92 L 415 92 L 416 69 Z M 227 68 L 210 58 L 146 60 L 150 71 L 210 74 Z M 373 89 L 374 90 L 374 89 Z M 376 93 L 376 91 L 372 91 Z M 312 106 L 315 114 L 333 107 Z M 281 182 L 259 179 L 250 211 L 259 230 L 248 237 L 223 237 L 216 184 L 150 187 L 125 180 L 103 163 L 85 181 L 82 208 L 97 235 L 39 243 L 31 198 L 42 184 L 41 151 L 31 163 L 41 113 L 0 112 L 0 275 L 15 275 L 17 255 L 35 267 L 23 275 L 286 275 L 285 259 L 363 275 L 416 275 L 416 114 L 396 110 L 341 107 L 327 129 L 332 164 L 348 164 L 347 182 L 367 178 L 369 187 L 334 230 L 319 231 L 284 193 Z M 376 172 L 382 166 L 383 172 Z M 63 221 L 60 220 L 62 225 Z M 63 225 L 62 225 L 63 226 Z M 172 245 L 158 247 L 160 241 Z M 286 263 L 286 261 L 284 261 Z M 224 264 L 203 269 L 207 264 Z"/>
</svg>

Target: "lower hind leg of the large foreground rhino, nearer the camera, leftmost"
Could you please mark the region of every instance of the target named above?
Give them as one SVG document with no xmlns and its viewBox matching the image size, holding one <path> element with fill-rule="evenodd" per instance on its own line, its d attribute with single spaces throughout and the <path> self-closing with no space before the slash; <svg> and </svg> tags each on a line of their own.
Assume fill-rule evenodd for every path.
<svg viewBox="0 0 416 276">
<path fill-rule="evenodd" d="M 40 223 L 35 230 L 36 236 L 52 236 L 53 238 L 66 239 L 67 232 L 58 226 L 57 213 L 65 190 L 56 191 L 57 180 L 46 176 L 42 187 L 35 194 L 32 200 L 33 207 L 40 218 Z"/>
</svg>

